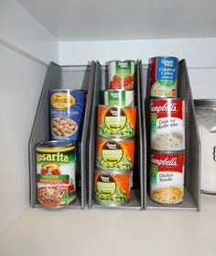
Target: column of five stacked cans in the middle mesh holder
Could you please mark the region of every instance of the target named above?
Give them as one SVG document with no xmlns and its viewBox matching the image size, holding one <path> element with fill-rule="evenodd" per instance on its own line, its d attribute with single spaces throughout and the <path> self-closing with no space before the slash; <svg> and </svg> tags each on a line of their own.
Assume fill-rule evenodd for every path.
<svg viewBox="0 0 216 256">
<path fill-rule="evenodd" d="M 135 61 L 109 61 L 108 90 L 98 106 L 93 197 L 104 206 L 130 200 L 135 152 Z"/>
</svg>

